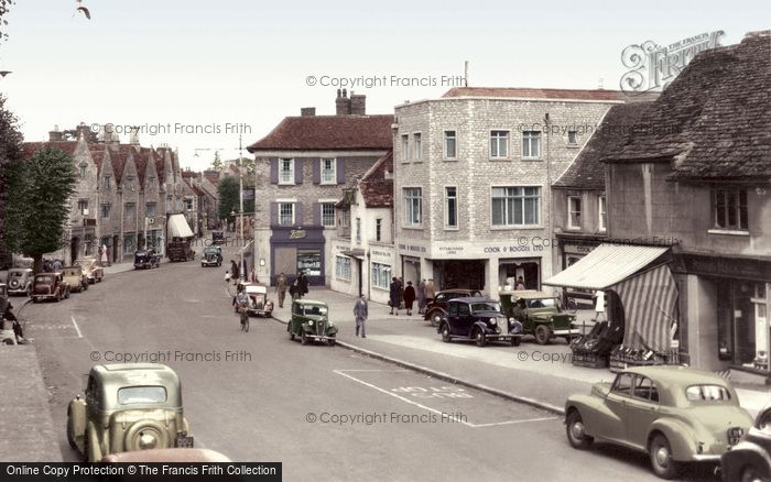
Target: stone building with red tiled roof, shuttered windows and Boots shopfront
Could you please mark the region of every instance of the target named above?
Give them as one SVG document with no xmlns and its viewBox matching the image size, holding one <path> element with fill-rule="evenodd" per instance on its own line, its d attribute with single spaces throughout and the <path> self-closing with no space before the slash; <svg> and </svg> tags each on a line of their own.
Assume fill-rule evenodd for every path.
<svg viewBox="0 0 771 482">
<path fill-rule="evenodd" d="M 326 285 L 334 269 L 329 239 L 340 222 L 343 188 L 392 146 L 393 116 L 368 116 L 365 96 L 338 91 L 335 116 L 304 108 L 247 150 L 256 156 L 257 275 L 305 272 Z"/>
</svg>

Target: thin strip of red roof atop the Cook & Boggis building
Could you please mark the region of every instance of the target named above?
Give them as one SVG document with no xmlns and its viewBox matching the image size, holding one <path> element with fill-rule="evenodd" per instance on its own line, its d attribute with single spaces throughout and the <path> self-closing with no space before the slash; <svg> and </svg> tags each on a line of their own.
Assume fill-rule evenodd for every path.
<svg viewBox="0 0 771 482">
<path fill-rule="evenodd" d="M 454 87 L 442 97 L 511 97 L 524 99 L 573 99 L 626 102 L 645 101 L 655 98 L 653 95 L 630 96 L 619 90 L 582 90 L 582 89 L 540 89 L 528 87 Z"/>
</svg>

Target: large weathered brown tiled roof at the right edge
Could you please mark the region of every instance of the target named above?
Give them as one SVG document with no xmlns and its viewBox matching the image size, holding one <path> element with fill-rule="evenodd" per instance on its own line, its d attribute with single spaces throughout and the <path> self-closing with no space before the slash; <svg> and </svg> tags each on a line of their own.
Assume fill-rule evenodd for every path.
<svg viewBox="0 0 771 482">
<path fill-rule="evenodd" d="M 672 179 L 771 178 L 771 31 L 698 54 L 609 162 L 673 163 Z"/>
</svg>

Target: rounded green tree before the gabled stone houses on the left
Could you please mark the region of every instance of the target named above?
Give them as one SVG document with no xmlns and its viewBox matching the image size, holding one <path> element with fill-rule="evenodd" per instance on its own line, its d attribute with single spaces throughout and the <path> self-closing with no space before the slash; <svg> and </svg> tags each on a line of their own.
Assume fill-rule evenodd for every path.
<svg viewBox="0 0 771 482">
<path fill-rule="evenodd" d="M 8 169 L 8 247 L 34 260 L 39 272 L 43 254 L 66 245 L 69 197 L 77 173 L 73 156 L 44 147 Z"/>
</svg>

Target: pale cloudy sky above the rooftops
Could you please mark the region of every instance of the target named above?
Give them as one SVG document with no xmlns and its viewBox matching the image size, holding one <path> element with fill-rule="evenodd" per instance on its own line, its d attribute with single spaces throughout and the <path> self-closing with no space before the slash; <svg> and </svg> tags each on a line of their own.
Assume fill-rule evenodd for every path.
<svg viewBox="0 0 771 482">
<path fill-rule="evenodd" d="M 75 0 L 19 0 L 7 15 L 0 92 L 24 139 L 79 122 L 139 125 L 142 145 L 178 149 L 196 171 L 215 151 L 236 158 L 239 134 L 246 147 L 302 107 L 334 114 L 344 81 L 360 84 L 348 90 L 367 95 L 368 113 L 459 87 L 466 61 L 473 87 L 618 89 L 629 45 L 714 31 L 730 45 L 771 29 L 768 0 L 83 6 L 91 20 Z"/>
</svg>

